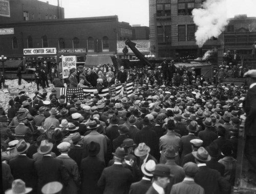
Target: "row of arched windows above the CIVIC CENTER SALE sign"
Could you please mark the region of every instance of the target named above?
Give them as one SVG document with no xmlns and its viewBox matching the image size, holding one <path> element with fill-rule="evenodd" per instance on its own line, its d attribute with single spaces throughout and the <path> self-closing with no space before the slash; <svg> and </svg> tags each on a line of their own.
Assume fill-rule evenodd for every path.
<svg viewBox="0 0 256 194">
<path fill-rule="evenodd" d="M 94 39 L 93 37 L 89 37 L 87 39 L 88 52 L 94 52 L 95 49 L 98 48 L 98 46 L 99 46 L 99 41 L 100 41 L 99 39 Z M 41 42 L 42 42 L 42 48 L 49 47 L 49 41 L 48 41 L 48 37 L 46 35 L 42 36 Z M 73 38 L 72 43 L 73 43 L 74 49 L 80 48 L 79 38 L 77 38 L 77 37 Z M 27 38 L 27 45 L 28 45 L 28 48 L 34 48 L 33 38 L 31 36 L 28 36 L 28 38 Z M 102 51 L 109 51 L 109 38 L 106 36 L 102 37 L 101 45 L 102 45 Z M 18 39 L 16 37 L 12 38 L 12 48 L 18 49 Z M 59 49 L 66 48 L 66 41 L 64 38 L 58 39 L 58 48 Z"/>
</svg>

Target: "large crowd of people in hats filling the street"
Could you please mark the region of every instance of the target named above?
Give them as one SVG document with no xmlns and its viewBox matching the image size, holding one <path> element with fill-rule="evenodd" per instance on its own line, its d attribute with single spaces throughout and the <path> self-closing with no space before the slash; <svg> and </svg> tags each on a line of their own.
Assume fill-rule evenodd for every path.
<svg viewBox="0 0 256 194">
<path fill-rule="evenodd" d="M 21 91 L 7 111 L 0 106 L 3 190 L 230 193 L 240 116 L 250 115 L 248 128 L 255 117 L 255 108 L 248 105 L 256 99 L 250 92 L 254 71 L 243 72 L 252 85 L 240 87 L 205 79 L 166 60 L 155 70 L 78 67 L 71 69 L 67 85 L 96 87 L 93 97 L 88 93 L 81 100 L 73 94 L 67 104 L 54 88 L 50 94 L 36 92 L 32 99 Z M 104 87 L 129 81 L 134 82 L 130 95 L 99 95 Z M 59 78 L 52 82 L 65 87 Z M 247 92 L 254 99 L 248 101 Z M 253 171 L 251 131 L 246 155 Z M 255 183 L 253 173 L 247 178 Z"/>
</svg>

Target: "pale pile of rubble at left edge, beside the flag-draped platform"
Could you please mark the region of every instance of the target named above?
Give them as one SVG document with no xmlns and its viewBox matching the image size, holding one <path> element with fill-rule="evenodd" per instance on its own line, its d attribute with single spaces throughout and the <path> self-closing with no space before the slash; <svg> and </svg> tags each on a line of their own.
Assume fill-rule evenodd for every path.
<svg viewBox="0 0 256 194">
<path fill-rule="evenodd" d="M 51 93 L 52 88 L 54 85 L 49 83 L 49 88 L 46 88 L 48 94 Z M 42 93 L 42 88 L 39 87 L 39 93 Z M 14 99 L 20 91 L 25 91 L 26 95 L 30 98 L 34 97 L 34 93 L 37 91 L 36 83 L 35 82 L 27 82 L 22 79 L 22 84 L 18 85 L 18 79 L 7 79 L 5 80 L 5 87 L 0 90 L 0 104 L 3 106 L 5 112 L 7 113 L 8 110 L 8 103 L 10 99 Z"/>
</svg>

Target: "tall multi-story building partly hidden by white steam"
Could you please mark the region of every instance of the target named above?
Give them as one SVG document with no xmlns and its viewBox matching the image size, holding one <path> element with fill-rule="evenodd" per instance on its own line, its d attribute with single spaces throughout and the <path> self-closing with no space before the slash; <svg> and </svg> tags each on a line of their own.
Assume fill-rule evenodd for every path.
<svg viewBox="0 0 256 194">
<path fill-rule="evenodd" d="M 157 57 L 195 58 L 207 50 L 218 51 L 221 60 L 223 35 L 208 40 L 202 49 L 196 45 L 191 11 L 201 8 L 204 0 L 150 0 L 150 47 Z"/>
</svg>

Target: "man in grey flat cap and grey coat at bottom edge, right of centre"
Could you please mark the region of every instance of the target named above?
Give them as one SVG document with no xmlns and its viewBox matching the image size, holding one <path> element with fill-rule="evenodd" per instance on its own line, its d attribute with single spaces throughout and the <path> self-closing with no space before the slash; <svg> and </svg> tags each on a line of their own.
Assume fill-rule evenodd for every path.
<svg viewBox="0 0 256 194">
<path fill-rule="evenodd" d="M 204 189 L 194 181 L 194 177 L 199 171 L 197 164 L 188 162 L 184 164 L 183 169 L 186 177 L 181 183 L 173 185 L 170 194 L 204 194 Z"/>
</svg>

